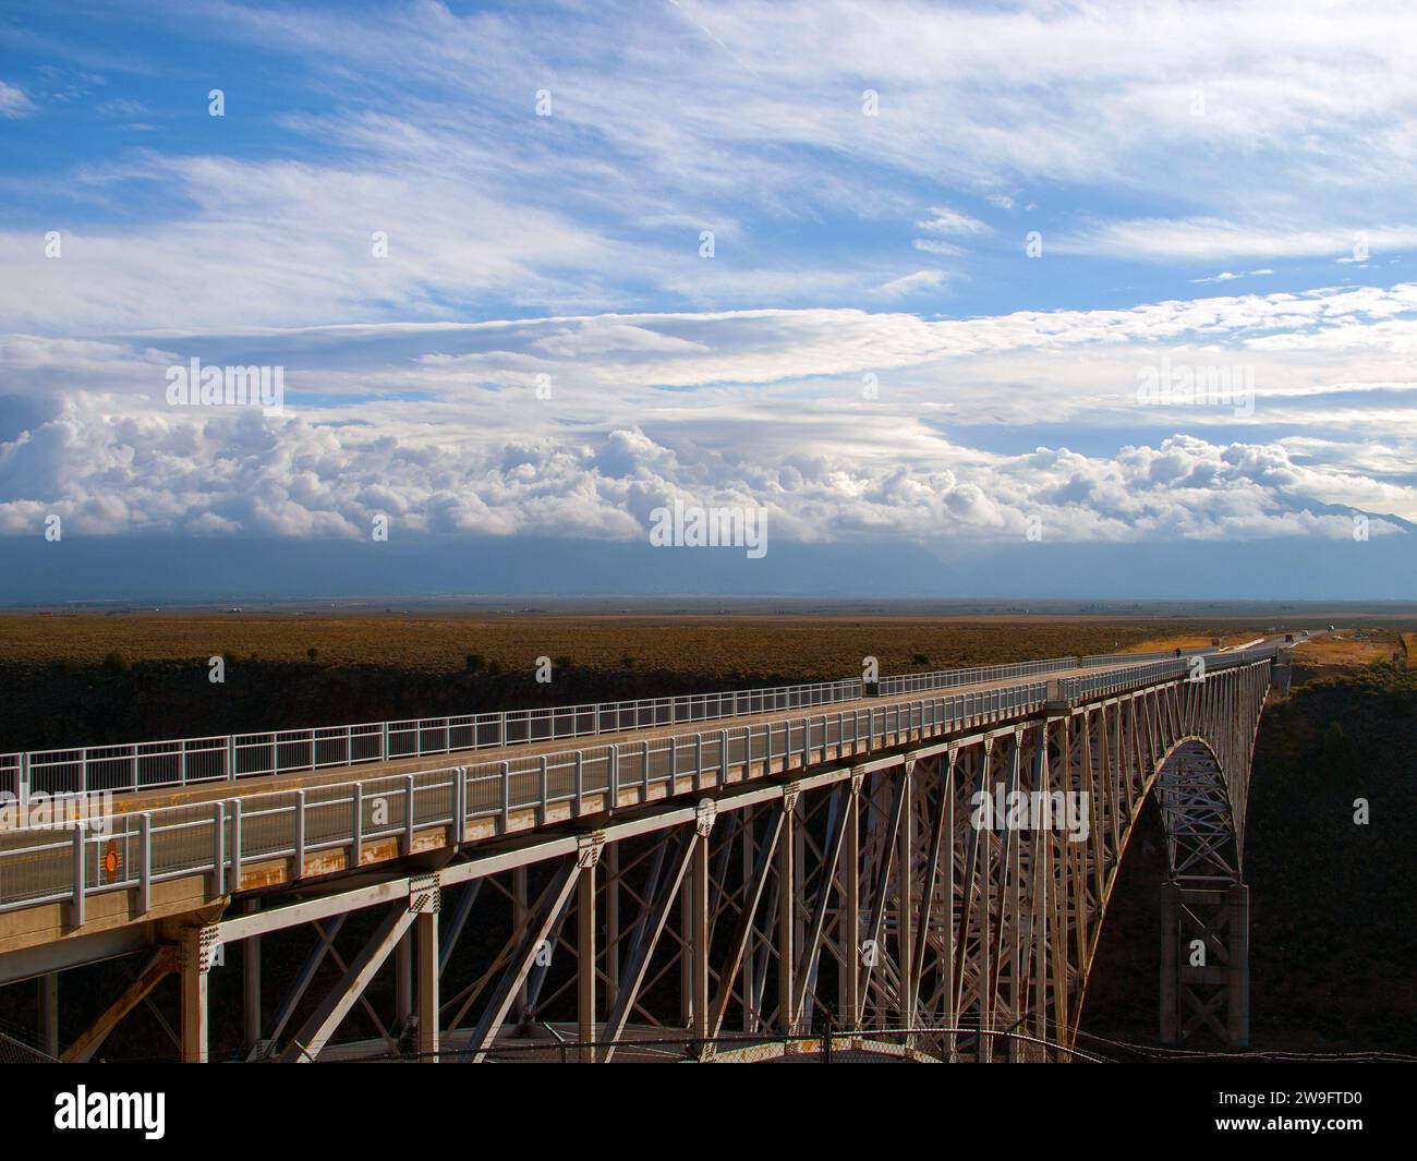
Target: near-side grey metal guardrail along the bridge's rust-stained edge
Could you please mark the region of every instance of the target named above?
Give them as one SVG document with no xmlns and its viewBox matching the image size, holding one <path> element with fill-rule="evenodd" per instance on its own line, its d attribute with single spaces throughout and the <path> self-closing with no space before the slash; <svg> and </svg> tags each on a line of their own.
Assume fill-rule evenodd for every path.
<svg viewBox="0 0 1417 1161">
<path fill-rule="evenodd" d="M 1251 649 L 1207 661 L 1227 669 L 1270 659 L 1278 649 Z M 779 722 L 726 726 L 670 737 L 621 741 L 589 750 L 524 756 L 480 765 L 445 767 L 394 774 L 360 783 L 278 790 L 245 798 L 164 807 L 105 819 L 106 832 L 89 826 L 68 831 L 0 831 L 0 910 L 38 903 L 72 906 L 75 926 L 85 900 L 112 890 L 137 890 L 139 912 L 149 910 L 152 885 L 190 875 L 211 875 L 211 894 L 239 883 L 241 868 L 254 860 L 293 859 L 320 851 L 343 851 L 346 865 L 359 865 L 364 843 L 395 838 L 400 851 L 414 848 L 418 829 L 451 826 L 462 835 L 475 818 L 500 817 L 506 829 L 513 811 L 536 808 L 541 817 L 558 802 L 585 795 L 618 801 L 622 788 L 650 788 L 706 771 L 720 781 L 734 767 L 740 778 L 772 768 L 774 760 L 801 756 L 803 764 L 828 760 L 828 750 L 852 746 L 871 753 L 961 729 L 1037 713 L 1057 695 L 1107 695 L 1189 672 L 1186 658 L 1084 678 L 1056 678 L 1000 689 L 961 690 L 938 697 L 856 707 Z"/>
</svg>

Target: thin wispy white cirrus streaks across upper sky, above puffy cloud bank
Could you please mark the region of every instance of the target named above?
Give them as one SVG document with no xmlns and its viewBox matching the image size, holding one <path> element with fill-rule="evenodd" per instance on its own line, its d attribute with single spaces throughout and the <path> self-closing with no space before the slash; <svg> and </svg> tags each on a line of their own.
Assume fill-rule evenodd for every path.
<svg viewBox="0 0 1417 1161">
<path fill-rule="evenodd" d="M 1281 0 L 1122 13 L 884 3 L 870 18 L 845 3 L 594 17 L 217 3 L 170 16 L 258 45 L 302 99 L 261 95 L 264 155 L 215 119 L 196 150 L 102 142 L 75 196 L 122 206 L 122 237 L 111 221 L 71 228 L 102 249 L 88 278 L 105 292 L 48 293 L 54 272 L 27 269 L 40 303 L 0 303 L 26 326 L 41 313 L 48 329 L 133 325 L 142 299 L 126 285 L 152 285 L 164 237 L 204 268 L 244 251 L 254 286 L 288 284 L 293 320 L 842 306 L 887 285 L 925 310 L 996 312 L 996 278 L 975 279 L 990 301 L 971 303 L 954 276 L 914 278 L 918 255 L 949 259 L 951 275 L 988 272 L 1040 230 L 1046 254 L 1068 261 L 1032 267 L 1029 284 L 1081 296 L 1111 274 L 1073 259 L 1180 265 L 1185 286 L 1214 264 L 1339 261 L 1360 235 L 1389 255 L 1417 238 L 1417 60 L 1401 4 L 1369 6 L 1362 21 Z M 778 51 L 785 37 L 794 52 Z M 255 96 L 237 85 L 234 108 L 245 116 Z M 143 123 L 167 112 L 146 92 L 98 108 L 122 102 L 152 109 Z M 1241 170 L 1243 183 L 1216 180 Z M 1158 198 L 1166 215 L 1136 213 Z M 14 223 L 33 215 L 23 198 L 11 208 Z M 361 265 L 374 228 L 397 231 L 377 278 Z M 699 261 L 703 230 L 724 242 L 713 267 Z M 238 292 L 225 318 L 269 298 Z M 103 318 L 105 301 L 125 318 Z M 221 303 L 198 292 L 190 309 L 208 306 Z M 154 296 L 150 313 L 170 312 Z"/>
</svg>

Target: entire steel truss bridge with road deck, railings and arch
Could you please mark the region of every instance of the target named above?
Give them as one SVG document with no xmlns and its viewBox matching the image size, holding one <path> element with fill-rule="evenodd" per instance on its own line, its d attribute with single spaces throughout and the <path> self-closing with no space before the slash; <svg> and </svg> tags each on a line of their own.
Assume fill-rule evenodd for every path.
<svg viewBox="0 0 1417 1161">
<path fill-rule="evenodd" d="M 837 1049 L 900 1059 L 1067 1060 L 1155 794 L 1162 1039 L 1243 1046 L 1246 800 L 1275 683 L 1288 662 L 1270 644 L 1061 658 L 704 699 L 629 727 L 561 713 L 572 740 L 594 734 L 575 750 L 555 727 L 509 740 L 503 716 L 462 754 L 156 787 L 140 744 L 98 832 L 0 831 L 0 985 L 40 981 L 38 1048 L 62 1060 L 156 1012 L 169 975 L 163 1023 L 188 1062 L 208 1059 L 214 1018 L 248 1059 L 292 1062 L 517 1059 L 537 1033 L 550 1059 L 646 1059 L 636 1043 L 677 1038 L 741 1060 L 818 1050 L 829 1028 Z M 310 947 L 293 982 L 262 965 L 289 933 Z M 118 957 L 130 982 L 61 1045 L 65 972 Z M 241 974 L 232 1011 L 213 1014 L 213 971 Z M 370 1001 L 381 972 L 394 1011 Z M 376 1041 L 340 1038 L 356 1006 Z"/>
</svg>

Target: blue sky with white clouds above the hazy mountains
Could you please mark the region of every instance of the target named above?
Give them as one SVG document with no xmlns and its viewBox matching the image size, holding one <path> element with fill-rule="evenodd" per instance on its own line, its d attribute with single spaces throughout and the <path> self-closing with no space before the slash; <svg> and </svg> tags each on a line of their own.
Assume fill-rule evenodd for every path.
<svg viewBox="0 0 1417 1161">
<path fill-rule="evenodd" d="M 932 551 L 1406 536 L 1414 33 L 10 4 L 0 534 L 628 544 L 679 498 Z M 171 407 L 193 357 L 283 367 L 283 413 Z M 1178 367 L 1244 397 L 1139 398 Z"/>
</svg>

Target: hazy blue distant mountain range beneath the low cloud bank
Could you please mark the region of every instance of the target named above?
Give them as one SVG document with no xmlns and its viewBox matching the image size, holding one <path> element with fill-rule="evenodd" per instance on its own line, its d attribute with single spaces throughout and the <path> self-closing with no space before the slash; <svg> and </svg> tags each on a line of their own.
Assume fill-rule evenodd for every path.
<svg viewBox="0 0 1417 1161">
<path fill-rule="evenodd" d="M 803 595 L 1067 600 L 1413 600 L 1417 532 L 1369 542 L 642 542 L 394 537 L 0 539 L 0 604 L 359 595 Z"/>
</svg>

